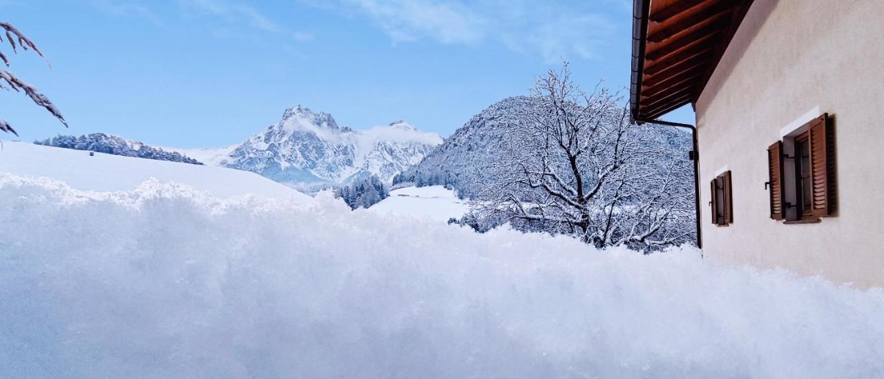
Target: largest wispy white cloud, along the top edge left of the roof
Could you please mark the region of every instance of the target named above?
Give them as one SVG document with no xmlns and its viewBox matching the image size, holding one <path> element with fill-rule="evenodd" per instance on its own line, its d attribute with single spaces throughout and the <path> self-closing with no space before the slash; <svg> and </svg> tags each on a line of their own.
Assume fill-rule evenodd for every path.
<svg viewBox="0 0 884 379">
<path fill-rule="evenodd" d="M 311 0 L 304 0 L 310 4 Z M 628 30 L 627 0 L 328 0 L 368 17 L 394 42 L 431 39 L 446 44 L 485 41 L 537 54 L 545 61 L 596 59 L 618 26 Z"/>
</svg>

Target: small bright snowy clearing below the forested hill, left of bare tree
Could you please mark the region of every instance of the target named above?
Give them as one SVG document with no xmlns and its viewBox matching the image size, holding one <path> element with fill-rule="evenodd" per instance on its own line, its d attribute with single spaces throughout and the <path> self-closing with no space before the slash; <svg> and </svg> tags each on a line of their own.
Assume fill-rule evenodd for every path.
<svg viewBox="0 0 884 379">
<path fill-rule="evenodd" d="M 457 198 L 453 190 L 443 186 L 427 186 L 393 189 L 390 197 L 371 205 L 364 212 L 447 222 L 451 218 L 460 219 L 468 211 L 469 206 Z"/>
</svg>

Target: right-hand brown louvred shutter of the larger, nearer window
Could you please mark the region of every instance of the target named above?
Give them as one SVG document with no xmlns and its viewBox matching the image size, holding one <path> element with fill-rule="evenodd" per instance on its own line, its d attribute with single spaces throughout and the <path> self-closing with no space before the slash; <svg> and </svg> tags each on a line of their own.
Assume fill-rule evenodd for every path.
<svg viewBox="0 0 884 379">
<path fill-rule="evenodd" d="M 828 115 L 813 120 L 810 130 L 811 150 L 811 214 L 824 217 L 834 208 L 834 138 Z"/>
</svg>

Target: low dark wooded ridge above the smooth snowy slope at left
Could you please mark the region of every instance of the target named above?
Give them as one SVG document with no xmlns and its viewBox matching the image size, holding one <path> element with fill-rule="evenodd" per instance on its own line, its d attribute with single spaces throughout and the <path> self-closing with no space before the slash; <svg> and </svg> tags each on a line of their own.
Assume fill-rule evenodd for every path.
<svg viewBox="0 0 884 379">
<path fill-rule="evenodd" d="M 159 147 L 145 145 L 138 141 L 130 141 L 123 137 L 112 136 L 104 133 L 92 133 L 80 137 L 57 136 L 46 138 L 42 141 L 34 141 L 36 145 L 64 147 L 66 149 L 87 150 L 90 152 L 104 152 L 126 157 L 146 158 L 149 160 L 168 160 L 171 162 L 191 163 L 202 165 L 198 160 L 188 158 L 179 152 L 169 152 Z"/>
</svg>

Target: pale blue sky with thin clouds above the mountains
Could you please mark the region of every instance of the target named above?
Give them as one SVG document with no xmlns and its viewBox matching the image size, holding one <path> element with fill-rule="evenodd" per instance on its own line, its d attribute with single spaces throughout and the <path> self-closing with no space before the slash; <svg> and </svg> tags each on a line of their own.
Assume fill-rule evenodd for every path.
<svg viewBox="0 0 884 379">
<path fill-rule="evenodd" d="M 25 141 L 103 131 L 198 147 L 238 143 L 302 104 L 356 129 L 406 119 L 446 136 L 562 60 L 583 87 L 625 88 L 631 3 L 0 0 L 52 64 L 19 51 L 10 70 L 71 128 L 18 93 L 0 93 L 0 117 Z"/>
</svg>

